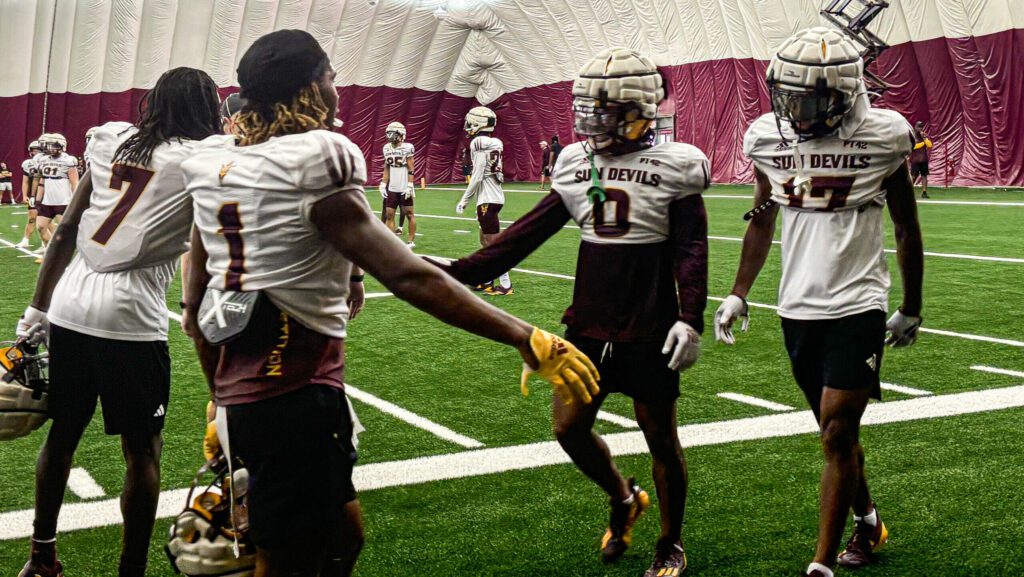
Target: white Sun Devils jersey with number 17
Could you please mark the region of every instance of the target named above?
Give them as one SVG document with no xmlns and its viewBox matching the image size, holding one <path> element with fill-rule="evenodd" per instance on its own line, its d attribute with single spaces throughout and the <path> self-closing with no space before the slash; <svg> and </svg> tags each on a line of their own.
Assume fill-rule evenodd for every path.
<svg viewBox="0 0 1024 577">
<path fill-rule="evenodd" d="M 817 320 L 888 310 L 882 184 L 913 148 L 910 125 L 896 112 L 868 109 L 847 139 L 836 133 L 798 145 L 784 122 L 782 131 L 788 143 L 769 113 L 743 138 L 782 212 L 779 315 Z"/>
</svg>

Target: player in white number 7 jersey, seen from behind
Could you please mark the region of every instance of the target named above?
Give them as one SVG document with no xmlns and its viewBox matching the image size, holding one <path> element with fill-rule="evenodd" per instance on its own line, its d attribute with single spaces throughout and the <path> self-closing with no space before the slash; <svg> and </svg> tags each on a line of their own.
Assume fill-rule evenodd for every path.
<svg viewBox="0 0 1024 577">
<path fill-rule="evenodd" d="M 53 419 L 36 467 L 32 557 L 20 577 L 61 575 L 57 514 L 97 399 L 104 431 L 121 437 L 127 464 L 118 575 L 145 572 L 171 384 L 167 287 L 191 224 L 180 164 L 196 140 L 219 130 L 219 104 L 209 75 L 174 69 L 143 96 L 134 126 L 108 123 L 89 142 L 92 167 L 17 326 L 18 336 L 49 338 Z"/>
</svg>

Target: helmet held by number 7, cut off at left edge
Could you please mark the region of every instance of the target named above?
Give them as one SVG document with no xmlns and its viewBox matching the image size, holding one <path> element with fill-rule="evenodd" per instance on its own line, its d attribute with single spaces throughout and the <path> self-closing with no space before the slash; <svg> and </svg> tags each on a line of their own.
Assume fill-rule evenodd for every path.
<svg viewBox="0 0 1024 577">
<path fill-rule="evenodd" d="M 26 341 L 0 347 L 0 441 L 25 437 L 48 418 L 47 353 Z"/>
</svg>

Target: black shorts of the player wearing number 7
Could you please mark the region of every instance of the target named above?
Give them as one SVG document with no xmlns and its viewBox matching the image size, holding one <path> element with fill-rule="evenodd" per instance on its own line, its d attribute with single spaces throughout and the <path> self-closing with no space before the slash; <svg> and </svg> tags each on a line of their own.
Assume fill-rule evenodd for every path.
<svg viewBox="0 0 1024 577">
<path fill-rule="evenodd" d="M 106 435 L 164 428 L 171 391 L 166 340 L 115 340 L 50 324 L 50 417 L 87 423 L 103 408 Z"/>
</svg>

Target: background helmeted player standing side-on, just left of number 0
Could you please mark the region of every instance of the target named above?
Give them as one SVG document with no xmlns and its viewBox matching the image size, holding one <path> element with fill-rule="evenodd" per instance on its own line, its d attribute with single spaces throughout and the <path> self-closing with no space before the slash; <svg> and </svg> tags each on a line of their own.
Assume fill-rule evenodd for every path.
<svg viewBox="0 0 1024 577">
<path fill-rule="evenodd" d="M 499 215 L 505 206 L 505 191 L 502 182 L 502 141 L 490 135 L 498 125 L 498 117 L 486 107 L 475 107 L 466 114 L 466 134 L 469 136 L 469 156 L 473 163 L 473 173 L 469 186 L 456 205 L 457 214 L 466 211 L 466 205 L 476 197 L 476 221 L 480 224 L 480 246 L 487 246 L 502 232 Z M 508 270 L 501 271 L 498 286 L 494 279 L 487 279 L 473 287 L 485 294 L 504 296 L 512 294 L 512 280 Z"/>
</svg>

